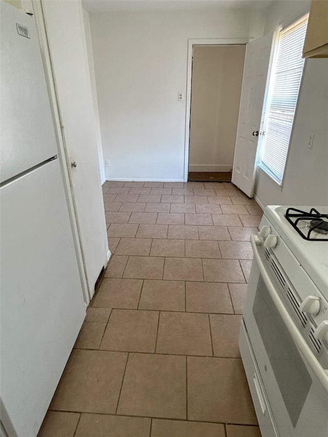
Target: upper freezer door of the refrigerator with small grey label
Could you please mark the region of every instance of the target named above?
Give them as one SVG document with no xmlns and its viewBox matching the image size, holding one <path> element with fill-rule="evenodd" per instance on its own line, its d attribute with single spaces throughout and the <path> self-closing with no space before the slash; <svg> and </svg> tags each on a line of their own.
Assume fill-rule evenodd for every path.
<svg viewBox="0 0 328 437">
<path fill-rule="evenodd" d="M 56 155 L 57 145 L 35 20 L 0 7 L 3 182 Z"/>
</svg>

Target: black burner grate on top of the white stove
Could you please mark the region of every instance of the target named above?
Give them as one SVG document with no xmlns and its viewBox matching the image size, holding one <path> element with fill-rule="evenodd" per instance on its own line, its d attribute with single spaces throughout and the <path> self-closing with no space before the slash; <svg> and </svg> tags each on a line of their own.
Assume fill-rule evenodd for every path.
<svg viewBox="0 0 328 437">
<path fill-rule="evenodd" d="M 296 214 L 295 214 L 296 213 Z M 295 221 L 292 220 L 292 217 L 295 218 Z M 328 241 L 327 238 L 311 238 L 314 233 L 328 235 L 328 222 L 323 220 L 324 218 L 328 218 L 328 214 L 320 214 L 314 208 L 311 209 L 310 213 L 302 210 L 297 210 L 295 208 L 288 208 L 285 214 L 285 218 L 291 223 L 294 229 L 300 234 L 302 238 L 309 241 Z M 304 234 L 301 231 L 301 225 L 299 221 L 311 220 L 308 227 L 309 232 Z"/>
</svg>

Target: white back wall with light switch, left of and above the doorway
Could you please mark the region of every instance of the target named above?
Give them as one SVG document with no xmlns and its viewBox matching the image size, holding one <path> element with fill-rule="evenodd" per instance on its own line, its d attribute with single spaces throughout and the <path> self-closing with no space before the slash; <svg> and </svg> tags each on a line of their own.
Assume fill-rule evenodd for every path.
<svg viewBox="0 0 328 437">
<path fill-rule="evenodd" d="M 188 38 L 257 38 L 260 11 L 90 13 L 111 179 L 183 180 Z"/>
</svg>

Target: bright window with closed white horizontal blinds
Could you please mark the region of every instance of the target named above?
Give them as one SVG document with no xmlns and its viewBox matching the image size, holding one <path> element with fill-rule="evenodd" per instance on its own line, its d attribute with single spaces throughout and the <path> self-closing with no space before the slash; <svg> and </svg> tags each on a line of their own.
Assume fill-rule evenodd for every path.
<svg viewBox="0 0 328 437">
<path fill-rule="evenodd" d="M 282 183 L 303 73 L 308 15 L 279 32 L 260 144 L 260 167 Z"/>
</svg>

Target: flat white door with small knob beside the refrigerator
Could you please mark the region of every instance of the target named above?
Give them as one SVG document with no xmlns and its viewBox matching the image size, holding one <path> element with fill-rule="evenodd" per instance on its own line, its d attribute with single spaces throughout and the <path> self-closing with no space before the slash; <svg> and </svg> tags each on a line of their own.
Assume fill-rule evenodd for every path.
<svg viewBox="0 0 328 437">
<path fill-rule="evenodd" d="M 83 10 L 80 1 L 43 1 L 42 6 L 91 298 L 110 254 Z"/>
</svg>

